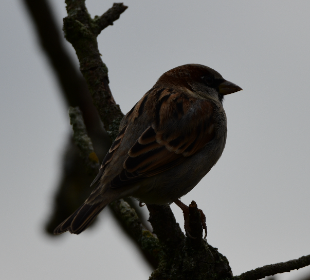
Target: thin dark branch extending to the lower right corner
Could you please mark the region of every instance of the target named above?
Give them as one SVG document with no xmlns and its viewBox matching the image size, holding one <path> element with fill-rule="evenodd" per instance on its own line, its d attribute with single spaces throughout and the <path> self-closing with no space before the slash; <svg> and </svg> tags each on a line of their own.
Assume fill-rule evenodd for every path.
<svg viewBox="0 0 310 280">
<path fill-rule="evenodd" d="M 234 280 L 259 280 L 266 276 L 289 272 L 291 270 L 300 269 L 308 265 L 310 265 L 310 255 L 302 256 L 297 259 L 291 259 L 285 263 L 259 267 L 257 269 L 242 273 L 240 276 L 234 276 Z"/>
</svg>

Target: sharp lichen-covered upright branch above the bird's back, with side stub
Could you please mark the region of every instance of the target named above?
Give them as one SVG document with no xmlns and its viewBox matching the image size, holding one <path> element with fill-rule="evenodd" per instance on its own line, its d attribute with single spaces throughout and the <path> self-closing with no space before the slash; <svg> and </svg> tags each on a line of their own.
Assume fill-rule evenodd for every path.
<svg viewBox="0 0 310 280">
<path fill-rule="evenodd" d="M 83 0 L 66 0 L 66 4 L 68 16 L 64 18 L 65 37 L 76 50 L 80 70 L 87 82 L 101 121 L 106 129 L 113 124 L 113 121 L 119 125 L 124 115 L 112 96 L 108 86 L 108 70 L 98 50 L 98 30 L 102 30 L 104 25 L 100 20 L 93 20 L 90 17 Z M 118 4 L 116 7 L 121 6 L 122 4 Z M 110 9 L 108 18 L 116 20 L 125 9 Z M 113 16 L 111 10 L 114 12 Z M 103 18 L 105 17 L 103 15 Z M 111 135 L 115 135 L 115 128 Z"/>
</svg>

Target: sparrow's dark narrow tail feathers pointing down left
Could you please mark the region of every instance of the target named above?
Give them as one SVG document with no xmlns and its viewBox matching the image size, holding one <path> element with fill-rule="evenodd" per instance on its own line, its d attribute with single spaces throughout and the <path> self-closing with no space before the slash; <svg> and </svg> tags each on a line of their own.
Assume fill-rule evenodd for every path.
<svg viewBox="0 0 310 280">
<path fill-rule="evenodd" d="M 106 205 L 102 202 L 96 204 L 87 204 L 85 202 L 54 230 L 54 234 L 61 234 L 66 231 L 80 234 L 88 228 Z"/>
</svg>

